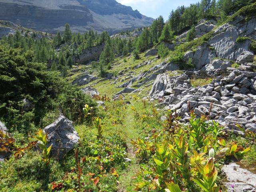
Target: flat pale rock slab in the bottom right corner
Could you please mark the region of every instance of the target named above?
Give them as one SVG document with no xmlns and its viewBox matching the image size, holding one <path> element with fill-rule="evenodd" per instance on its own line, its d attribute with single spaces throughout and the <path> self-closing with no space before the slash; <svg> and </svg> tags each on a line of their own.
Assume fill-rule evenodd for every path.
<svg viewBox="0 0 256 192">
<path fill-rule="evenodd" d="M 228 182 L 224 183 L 228 192 L 256 191 L 256 174 L 241 168 L 236 163 L 224 165 L 222 171 L 228 179 Z"/>
</svg>

